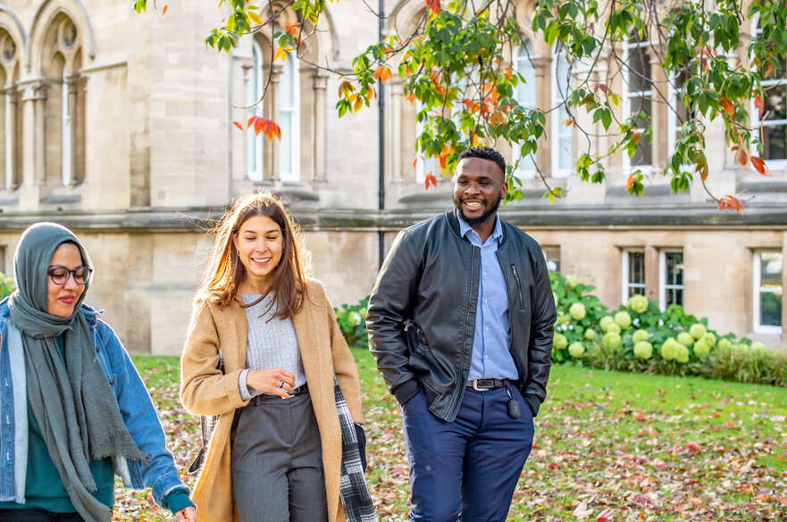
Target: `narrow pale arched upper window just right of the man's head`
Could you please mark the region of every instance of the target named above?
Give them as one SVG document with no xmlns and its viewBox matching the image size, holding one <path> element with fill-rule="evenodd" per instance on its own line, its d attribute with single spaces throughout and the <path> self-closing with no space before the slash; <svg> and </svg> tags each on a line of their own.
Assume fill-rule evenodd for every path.
<svg viewBox="0 0 787 522">
<path fill-rule="evenodd" d="M 568 110 L 565 102 L 571 92 L 571 71 L 565 48 L 557 44 L 552 51 L 552 176 L 565 178 L 574 167 L 574 126 L 566 126 Z"/>
</svg>

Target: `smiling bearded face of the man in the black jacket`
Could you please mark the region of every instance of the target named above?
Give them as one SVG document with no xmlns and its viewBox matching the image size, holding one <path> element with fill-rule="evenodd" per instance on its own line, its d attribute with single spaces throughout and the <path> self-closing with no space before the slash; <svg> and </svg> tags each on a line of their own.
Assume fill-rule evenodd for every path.
<svg viewBox="0 0 787 522">
<path fill-rule="evenodd" d="M 456 165 L 454 204 L 470 225 L 493 217 L 507 190 L 505 175 L 495 162 L 465 158 Z"/>
</svg>

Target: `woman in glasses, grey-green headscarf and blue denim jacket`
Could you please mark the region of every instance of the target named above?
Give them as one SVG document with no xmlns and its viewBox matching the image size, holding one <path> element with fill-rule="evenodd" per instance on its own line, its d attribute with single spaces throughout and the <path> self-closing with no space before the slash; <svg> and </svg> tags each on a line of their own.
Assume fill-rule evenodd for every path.
<svg viewBox="0 0 787 522">
<path fill-rule="evenodd" d="M 110 522 L 114 474 L 196 520 L 147 389 L 82 302 L 93 272 L 68 228 L 38 223 L 0 302 L 0 522 Z"/>
</svg>

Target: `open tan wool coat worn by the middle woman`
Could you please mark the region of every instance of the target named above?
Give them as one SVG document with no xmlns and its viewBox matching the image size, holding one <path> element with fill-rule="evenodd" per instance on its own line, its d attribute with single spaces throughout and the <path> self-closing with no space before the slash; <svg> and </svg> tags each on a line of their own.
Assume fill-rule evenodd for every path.
<svg viewBox="0 0 787 522">
<path fill-rule="evenodd" d="M 319 281 L 309 279 L 303 310 L 292 318 L 306 371 L 314 416 L 322 439 L 322 465 L 329 522 L 346 522 L 339 499 L 341 432 L 333 396 L 333 375 L 356 423 L 361 416 L 361 389 L 355 360 L 336 323 L 331 302 Z M 237 522 L 230 474 L 230 428 L 240 398 L 238 379 L 246 368 L 246 309 L 240 297 L 222 308 L 197 302 L 180 360 L 180 401 L 197 415 L 218 415 L 193 500 L 198 522 Z M 224 373 L 219 366 L 219 349 Z"/>
</svg>

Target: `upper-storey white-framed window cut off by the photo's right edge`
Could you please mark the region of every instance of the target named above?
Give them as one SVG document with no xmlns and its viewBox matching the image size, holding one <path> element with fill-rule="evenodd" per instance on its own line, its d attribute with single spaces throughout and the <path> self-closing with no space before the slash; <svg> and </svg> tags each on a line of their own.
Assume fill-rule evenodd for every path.
<svg viewBox="0 0 787 522">
<path fill-rule="evenodd" d="M 752 21 L 752 33 L 759 36 L 762 29 L 759 18 Z M 787 61 L 782 62 L 782 70 L 772 73 L 762 79 L 763 90 L 763 118 L 760 119 L 759 110 L 752 107 L 751 114 L 754 127 L 761 128 L 760 141 L 763 145 L 762 158 L 773 168 L 787 165 Z M 781 78 L 775 77 L 781 74 Z"/>
</svg>

